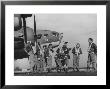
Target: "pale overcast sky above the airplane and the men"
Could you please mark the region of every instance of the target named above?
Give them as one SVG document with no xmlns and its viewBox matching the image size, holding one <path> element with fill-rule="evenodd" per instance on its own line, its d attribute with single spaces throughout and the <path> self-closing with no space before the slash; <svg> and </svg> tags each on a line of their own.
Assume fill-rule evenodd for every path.
<svg viewBox="0 0 110 89">
<path fill-rule="evenodd" d="M 27 19 L 27 26 L 33 28 L 33 16 Z M 88 37 L 96 42 L 96 14 L 36 14 L 37 30 L 63 32 L 64 40 L 87 45 Z M 72 39 L 71 39 L 72 38 Z"/>
</svg>

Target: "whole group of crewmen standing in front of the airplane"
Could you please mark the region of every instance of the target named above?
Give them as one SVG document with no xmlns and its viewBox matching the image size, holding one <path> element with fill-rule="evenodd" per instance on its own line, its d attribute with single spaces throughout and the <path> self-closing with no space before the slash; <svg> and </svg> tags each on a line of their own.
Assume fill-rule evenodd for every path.
<svg viewBox="0 0 110 89">
<path fill-rule="evenodd" d="M 93 43 L 93 39 L 88 39 L 89 47 L 88 47 L 88 60 L 87 60 L 87 71 L 90 71 L 91 69 L 93 71 L 97 70 L 97 46 L 95 43 Z M 43 71 L 51 72 L 52 70 L 52 60 L 54 58 L 56 67 L 55 69 L 57 72 L 68 72 L 68 63 L 70 57 L 70 50 L 72 50 L 73 54 L 73 70 L 74 71 L 80 71 L 79 69 L 79 61 L 80 61 L 80 55 L 82 54 L 82 49 L 80 47 L 80 44 L 77 43 L 74 48 L 68 48 L 67 47 L 68 42 L 65 42 L 62 47 L 59 47 L 56 51 L 54 51 L 54 46 L 52 44 L 49 45 L 43 45 L 41 47 L 40 43 L 38 42 L 36 45 L 36 53 L 33 52 L 33 50 L 28 51 L 28 49 L 32 49 L 32 46 L 30 43 L 27 44 L 26 51 L 28 52 L 29 60 L 30 60 L 30 66 L 32 72 L 38 72 L 42 73 Z M 29 46 L 30 45 L 30 46 Z M 53 56 L 52 54 L 55 53 Z M 92 67 L 91 67 L 92 66 Z"/>
</svg>

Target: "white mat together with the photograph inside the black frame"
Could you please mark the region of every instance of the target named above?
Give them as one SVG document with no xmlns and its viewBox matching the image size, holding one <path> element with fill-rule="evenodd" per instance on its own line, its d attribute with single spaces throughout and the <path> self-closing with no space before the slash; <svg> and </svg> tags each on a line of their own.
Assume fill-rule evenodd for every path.
<svg viewBox="0 0 110 89">
<path fill-rule="evenodd" d="M 106 83 L 106 5 L 5 10 L 6 85 Z"/>
</svg>

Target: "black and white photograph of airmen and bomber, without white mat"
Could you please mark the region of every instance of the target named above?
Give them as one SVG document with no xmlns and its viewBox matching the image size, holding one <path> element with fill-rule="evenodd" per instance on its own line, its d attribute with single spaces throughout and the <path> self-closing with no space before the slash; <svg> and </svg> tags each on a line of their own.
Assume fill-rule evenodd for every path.
<svg viewBox="0 0 110 89">
<path fill-rule="evenodd" d="M 97 76 L 97 14 L 14 14 L 15 76 Z"/>
</svg>

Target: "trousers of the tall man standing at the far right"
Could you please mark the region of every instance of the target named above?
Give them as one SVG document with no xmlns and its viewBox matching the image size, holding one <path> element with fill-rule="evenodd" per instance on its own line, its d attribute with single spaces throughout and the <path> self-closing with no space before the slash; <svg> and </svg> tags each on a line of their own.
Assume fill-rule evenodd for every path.
<svg viewBox="0 0 110 89">
<path fill-rule="evenodd" d="M 94 70 L 97 69 L 96 55 L 94 53 L 88 54 L 87 69 L 90 69 L 91 65 Z"/>
</svg>

